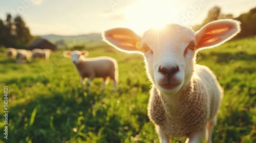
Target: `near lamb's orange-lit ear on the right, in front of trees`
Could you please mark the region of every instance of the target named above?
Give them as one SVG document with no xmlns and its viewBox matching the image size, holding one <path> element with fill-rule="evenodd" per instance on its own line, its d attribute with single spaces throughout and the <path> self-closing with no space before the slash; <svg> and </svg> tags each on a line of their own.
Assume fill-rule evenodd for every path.
<svg viewBox="0 0 256 143">
<path fill-rule="evenodd" d="M 196 50 L 218 46 L 240 32 L 240 21 L 224 19 L 208 23 L 196 32 Z"/>
</svg>

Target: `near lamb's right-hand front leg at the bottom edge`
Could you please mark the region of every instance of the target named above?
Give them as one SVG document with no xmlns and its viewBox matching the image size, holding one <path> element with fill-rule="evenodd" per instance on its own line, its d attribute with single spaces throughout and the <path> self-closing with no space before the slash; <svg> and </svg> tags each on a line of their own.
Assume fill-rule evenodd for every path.
<svg viewBox="0 0 256 143">
<path fill-rule="evenodd" d="M 205 137 L 205 133 L 206 133 L 206 127 L 202 128 L 201 130 L 191 132 L 188 138 L 186 139 L 185 143 L 201 142 Z"/>
</svg>

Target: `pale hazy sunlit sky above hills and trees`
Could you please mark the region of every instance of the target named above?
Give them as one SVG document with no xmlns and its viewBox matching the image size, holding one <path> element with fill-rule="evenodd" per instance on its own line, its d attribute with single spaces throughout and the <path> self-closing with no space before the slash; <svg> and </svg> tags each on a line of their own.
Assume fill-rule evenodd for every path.
<svg viewBox="0 0 256 143">
<path fill-rule="evenodd" d="M 138 34 L 167 23 L 201 24 L 219 6 L 234 17 L 256 7 L 255 0 L 0 0 L 0 18 L 21 15 L 32 35 L 81 35 L 117 27 Z"/>
</svg>

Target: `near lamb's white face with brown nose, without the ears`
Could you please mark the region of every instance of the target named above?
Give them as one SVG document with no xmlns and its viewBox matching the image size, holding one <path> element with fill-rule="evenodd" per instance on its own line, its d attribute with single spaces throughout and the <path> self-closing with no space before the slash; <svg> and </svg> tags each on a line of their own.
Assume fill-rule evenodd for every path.
<svg viewBox="0 0 256 143">
<path fill-rule="evenodd" d="M 195 34 L 177 25 L 150 29 L 142 36 L 148 77 L 164 94 L 172 95 L 186 86 L 193 74 Z"/>
</svg>

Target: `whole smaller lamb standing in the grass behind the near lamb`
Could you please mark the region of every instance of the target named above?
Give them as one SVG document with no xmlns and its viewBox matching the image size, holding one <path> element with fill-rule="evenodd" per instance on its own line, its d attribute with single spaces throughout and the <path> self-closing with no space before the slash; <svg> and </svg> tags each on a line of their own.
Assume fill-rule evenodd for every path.
<svg viewBox="0 0 256 143">
<path fill-rule="evenodd" d="M 118 84 L 118 65 L 117 61 L 111 57 L 85 58 L 89 55 L 88 51 L 65 51 L 63 55 L 67 58 L 72 57 L 72 62 L 81 76 L 81 84 L 84 78 L 88 78 L 87 86 L 91 90 L 90 83 L 94 78 L 103 78 L 101 90 L 109 83 L 109 78 L 113 80 L 114 90 Z M 108 78 L 109 77 L 109 78 Z"/>
</svg>

